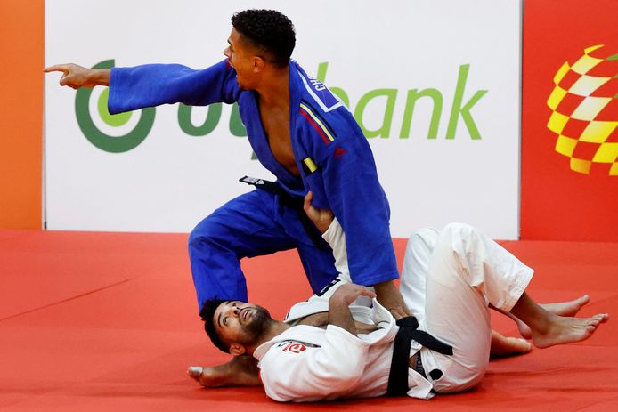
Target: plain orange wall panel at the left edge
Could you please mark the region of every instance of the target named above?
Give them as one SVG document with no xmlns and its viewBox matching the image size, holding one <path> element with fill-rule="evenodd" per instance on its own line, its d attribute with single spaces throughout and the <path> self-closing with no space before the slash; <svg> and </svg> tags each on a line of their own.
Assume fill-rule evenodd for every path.
<svg viewBox="0 0 618 412">
<path fill-rule="evenodd" d="M 44 0 L 0 0 L 0 228 L 40 229 Z"/>
</svg>

